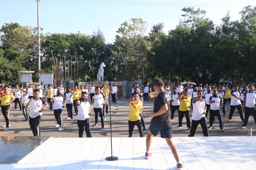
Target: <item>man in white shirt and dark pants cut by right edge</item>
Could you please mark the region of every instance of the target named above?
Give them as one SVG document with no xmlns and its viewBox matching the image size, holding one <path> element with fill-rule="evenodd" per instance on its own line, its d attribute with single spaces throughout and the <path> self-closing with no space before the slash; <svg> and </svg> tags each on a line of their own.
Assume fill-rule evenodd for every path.
<svg viewBox="0 0 256 170">
<path fill-rule="evenodd" d="M 245 118 L 242 128 L 246 127 L 251 114 L 256 123 L 256 92 L 254 91 L 254 88 L 255 86 L 251 84 L 249 86 L 249 91 L 244 94 L 243 111 L 245 113 Z"/>
</svg>

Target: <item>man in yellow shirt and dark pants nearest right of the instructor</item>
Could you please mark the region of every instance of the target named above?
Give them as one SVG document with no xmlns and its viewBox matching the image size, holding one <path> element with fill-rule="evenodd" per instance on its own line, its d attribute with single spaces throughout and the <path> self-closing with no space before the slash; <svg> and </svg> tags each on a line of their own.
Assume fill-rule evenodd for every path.
<svg viewBox="0 0 256 170">
<path fill-rule="evenodd" d="M 185 89 L 183 94 L 181 95 L 181 102 L 180 102 L 180 108 L 179 108 L 179 126 L 177 128 L 182 128 L 182 120 L 184 117 L 184 114 L 186 116 L 187 121 L 187 128 L 190 130 L 191 128 L 191 121 L 189 118 L 189 109 L 191 107 L 191 97 L 188 95 L 188 90 Z"/>
</svg>

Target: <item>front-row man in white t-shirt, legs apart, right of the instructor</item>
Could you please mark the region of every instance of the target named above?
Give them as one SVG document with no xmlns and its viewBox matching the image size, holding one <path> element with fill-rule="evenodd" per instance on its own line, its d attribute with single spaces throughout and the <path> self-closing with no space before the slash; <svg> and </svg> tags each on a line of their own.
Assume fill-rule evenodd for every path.
<svg viewBox="0 0 256 170">
<path fill-rule="evenodd" d="M 197 91 L 197 98 L 192 99 L 194 107 L 193 107 L 193 114 L 192 114 L 191 129 L 188 137 L 195 136 L 196 129 L 199 123 L 202 127 L 203 135 L 205 137 L 209 136 L 208 128 L 207 128 L 207 119 L 205 117 L 206 105 L 202 96 L 203 96 L 203 91 L 200 89 Z"/>
</svg>

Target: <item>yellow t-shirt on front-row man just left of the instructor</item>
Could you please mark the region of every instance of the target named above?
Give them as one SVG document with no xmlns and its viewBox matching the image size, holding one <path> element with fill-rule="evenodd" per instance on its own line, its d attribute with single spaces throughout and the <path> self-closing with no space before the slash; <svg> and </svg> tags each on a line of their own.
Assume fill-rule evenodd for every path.
<svg viewBox="0 0 256 170">
<path fill-rule="evenodd" d="M 136 106 L 136 109 L 133 108 L 131 105 L 133 103 Z M 140 118 L 140 109 L 142 109 L 142 102 L 139 100 L 138 103 L 136 103 L 133 99 L 129 101 L 130 105 L 130 112 L 129 112 L 129 121 L 135 122 L 137 120 L 141 120 Z"/>
</svg>

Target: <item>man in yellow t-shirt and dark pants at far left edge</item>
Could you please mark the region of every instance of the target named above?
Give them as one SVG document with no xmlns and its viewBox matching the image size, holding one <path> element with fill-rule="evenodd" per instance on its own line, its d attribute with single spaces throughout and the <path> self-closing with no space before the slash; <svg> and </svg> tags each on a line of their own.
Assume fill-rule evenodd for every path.
<svg viewBox="0 0 256 170">
<path fill-rule="evenodd" d="M 15 97 L 12 93 L 8 92 L 8 87 L 5 86 L 3 88 L 3 93 L 1 93 L 1 109 L 2 114 L 5 119 L 6 126 L 3 130 L 9 130 L 9 111 L 10 111 L 10 103 L 12 103 L 15 100 Z"/>
</svg>

